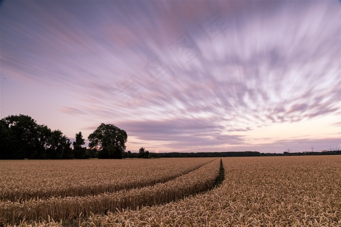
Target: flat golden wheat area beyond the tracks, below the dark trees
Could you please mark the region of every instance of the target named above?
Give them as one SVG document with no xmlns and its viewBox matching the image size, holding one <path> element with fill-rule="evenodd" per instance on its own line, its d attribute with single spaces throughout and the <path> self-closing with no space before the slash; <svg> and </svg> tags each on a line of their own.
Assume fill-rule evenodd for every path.
<svg viewBox="0 0 341 227">
<path fill-rule="evenodd" d="M 22 202 L 141 188 L 187 174 L 210 160 L 213 158 L 0 160 L 0 201 Z"/>
</svg>

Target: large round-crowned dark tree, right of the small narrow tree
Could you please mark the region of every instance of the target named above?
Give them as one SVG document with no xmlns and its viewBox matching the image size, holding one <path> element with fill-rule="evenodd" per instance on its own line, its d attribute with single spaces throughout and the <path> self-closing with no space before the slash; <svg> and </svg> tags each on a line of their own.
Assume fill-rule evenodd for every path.
<svg viewBox="0 0 341 227">
<path fill-rule="evenodd" d="M 126 131 L 113 124 L 101 123 L 88 137 L 89 148 L 96 149 L 100 158 L 122 158 L 126 149 Z"/>
</svg>

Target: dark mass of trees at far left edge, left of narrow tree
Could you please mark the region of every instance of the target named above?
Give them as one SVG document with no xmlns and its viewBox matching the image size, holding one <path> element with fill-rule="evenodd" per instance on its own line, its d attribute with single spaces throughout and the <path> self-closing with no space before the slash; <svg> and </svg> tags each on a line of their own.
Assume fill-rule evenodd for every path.
<svg viewBox="0 0 341 227">
<path fill-rule="evenodd" d="M 0 121 L 1 159 L 72 158 L 70 140 L 60 130 L 51 131 L 27 115 Z"/>
</svg>

